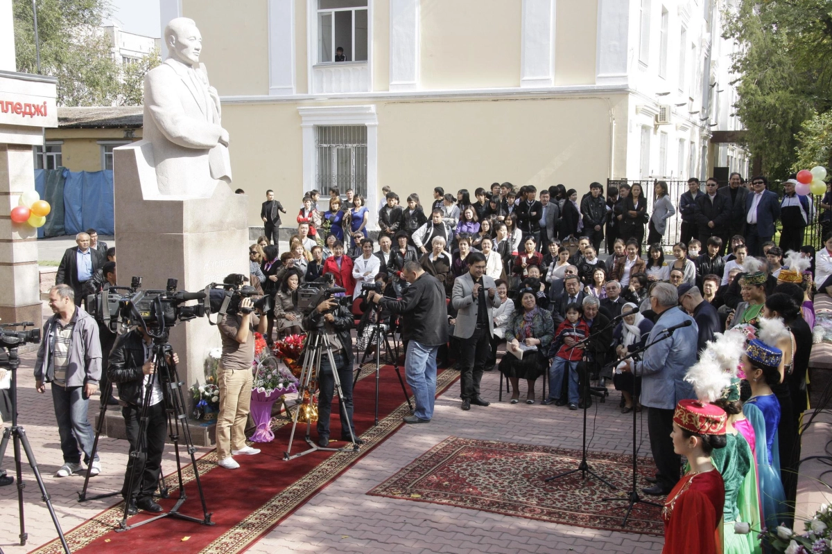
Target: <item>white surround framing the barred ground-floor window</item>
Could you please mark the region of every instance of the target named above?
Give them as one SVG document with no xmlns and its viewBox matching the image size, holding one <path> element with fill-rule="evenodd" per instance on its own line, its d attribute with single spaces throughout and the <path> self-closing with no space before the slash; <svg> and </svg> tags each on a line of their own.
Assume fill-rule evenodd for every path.
<svg viewBox="0 0 832 554">
<path fill-rule="evenodd" d="M 315 0 L 317 1 L 317 0 Z M 370 0 L 372 1 L 372 0 Z M 367 198 L 364 205 L 369 209 L 368 228 L 378 225 L 375 207 L 379 205 L 379 118 L 375 105 L 334 105 L 299 107 L 300 128 L 303 141 L 304 192 L 315 188 L 315 126 L 319 125 L 366 125 L 367 126 Z"/>
</svg>

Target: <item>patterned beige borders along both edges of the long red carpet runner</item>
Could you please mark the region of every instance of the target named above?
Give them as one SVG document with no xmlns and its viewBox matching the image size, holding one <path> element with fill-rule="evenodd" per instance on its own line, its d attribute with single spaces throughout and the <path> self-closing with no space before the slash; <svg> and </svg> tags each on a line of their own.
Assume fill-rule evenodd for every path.
<svg viewBox="0 0 832 554">
<path fill-rule="evenodd" d="M 392 366 L 389 367 L 392 370 Z M 370 375 L 374 375 L 374 363 L 368 363 L 359 370 L 359 380 L 364 380 Z M 404 373 L 404 367 L 401 368 Z M 404 375 L 403 375 L 404 377 Z M 441 395 L 453 384 L 459 377 L 458 371 L 443 370 L 437 375 L 437 396 Z M 395 383 L 399 387 L 398 381 Z M 337 399 L 335 399 L 337 400 Z M 411 396 L 411 401 L 413 397 Z M 358 462 L 360 458 L 369 453 L 379 444 L 384 442 L 391 434 L 393 434 L 399 427 L 404 425 L 402 418 L 404 415 L 410 413 L 407 402 L 399 404 L 399 407 L 394 409 L 390 414 L 383 419 L 379 419 L 378 426 L 370 427 L 361 438 L 364 439 L 365 444 L 361 447 L 359 452 L 334 452 L 323 462 L 319 463 L 315 468 L 306 473 L 303 477 L 297 479 L 290 486 L 277 493 L 273 498 L 257 507 L 254 512 L 250 512 L 240 522 L 237 522 L 228 531 L 215 538 L 214 541 L 201 550 L 205 554 L 236 554 L 243 552 L 251 547 L 254 542 L 265 533 L 270 532 L 272 528 L 277 526 L 282 520 L 290 516 L 292 512 L 305 503 L 320 489 L 334 481 L 336 478 L 344 473 L 350 466 Z M 337 420 L 337 419 L 336 419 Z M 276 431 L 290 424 L 286 419 L 272 419 L 271 429 Z M 299 433 L 301 432 L 300 423 L 298 426 Z M 301 434 L 300 441 L 302 442 L 303 435 Z M 298 440 L 298 439 L 295 439 Z M 251 443 L 248 443 L 251 444 Z M 255 444 L 255 446 L 257 446 Z M 303 448 L 301 446 L 301 448 Z M 187 456 L 183 456 L 183 460 L 187 461 Z M 201 458 L 197 459 L 197 467 L 200 471 L 200 476 L 203 477 L 206 473 L 214 470 L 216 465 L 216 449 L 206 453 Z M 183 481 L 191 483 L 195 476 L 193 466 L 190 462 L 183 463 L 182 466 Z M 176 471 L 165 476 L 165 483 L 170 488 L 171 497 L 176 496 L 179 482 L 176 478 Z M 194 498 L 191 502 L 198 502 Z M 67 539 L 72 552 L 75 552 L 83 547 L 87 547 L 90 543 L 101 538 L 108 532 L 113 531 L 121 522 L 121 517 L 124 513 L 124 502 L 117 503 L 114 506 L 106 508 L 104 511 L 98 513 L 96 516 L 88 519 L 79 526 L 73 528 L 71 531 L 64 534 Z M 141 512 L 140 512 L 141 514 Z M 135 516 L 128 517 L 128 521 Z M 152 524 L 151 524 L 152 525 Z M 193 534 L 197 534 L 200 526 L 195 524 Z M 129 533 L 129 532 L 128 532 Z M 51 542 L 47 542 L 32 550 L 30 554 L 62 554 L 63 548 L 61 542 L 56 538 Z"/>
</svg>

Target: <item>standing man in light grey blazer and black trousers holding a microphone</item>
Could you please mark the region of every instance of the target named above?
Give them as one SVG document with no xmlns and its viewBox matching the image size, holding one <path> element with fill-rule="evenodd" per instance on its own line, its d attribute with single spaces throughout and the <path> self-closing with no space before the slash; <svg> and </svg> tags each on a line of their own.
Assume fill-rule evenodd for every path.
<svg viewBox="0 0 832 554">
<path fill-rule="evenodd" d="M 453 282 L 451 304 L 457 311 L 453 336 L 460 342 L 459 375 L 460 398 L 463 409 L 471 404 L 488 406 L 479 396 L 479 382 L 491 354 L 491 337 L 494 334 L 494 308 L 500 307 L 497 285 L 485 275 L 485 256 L 481 252 L 468 254 L 468 272 Z"/>
</svg>

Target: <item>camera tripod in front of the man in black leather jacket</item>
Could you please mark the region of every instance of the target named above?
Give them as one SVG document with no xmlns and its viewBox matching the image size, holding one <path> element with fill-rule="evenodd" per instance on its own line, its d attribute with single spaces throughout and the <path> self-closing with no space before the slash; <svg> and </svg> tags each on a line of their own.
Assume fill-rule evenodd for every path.
<svg viewBox="0 0 832 554">
<path fill-rule="evenodd" d="M 194 446 L 193 439 L 191 439 L 191 428 L 188 427 L 185 396 L 182 393 L 182 386 L 184 383 L 179 380 L 176 365 L 169 364 L 167 362 L 166 356 L 172 354 L 173 349 L 167 342 L 166 332 L 162 332 L 161 336 L 153 338 L 153 357 L 155 359 L 154 372 L 151 374 L 151 377 L 145 386 L 144 400 L 141 404 L 141 415 L 139 418 L 138 441 L 136 443 L 136 449 L 132 450 L 130 453 L 132 462 L 131 471 L 130 477 L 127 479 L 127 487 L 125 489 L 128 497 L 125 498 L 124 515 L 121 517 L 121 522 L 119 523 L 119 527 L 116 529 L 116 532 L 129 531 L 132 528 L 145 525 L 146 523 L 155 522 L 157 519 L 161 519 L 162 517 L 176 517 L 189 522 L 201 523 L 202 525 L 214 525 L 214 522 L 210 521 L 212 514 L 208 512 L 205 493 L 202 491 L 200 472 L 196 467 L 196 447 Z M 176 475 L 179 479 L 179 498 L 176 500 L 176 504 L 171 508 L 170 512 L 161 513 L 156 517 L 151 517 L 150 519 L 146 519 L 134 525 L 127 525 L 127 510 L 130 507 L 133 485 L 136 483 L 136 466 L 141 460 L 141 457 L 146 456 L 147 424 L 149 419 L 148 412 L 151 406 L 150 403 L 151 396 L 153 395 L 153 385 L 156 383 L 156 379 L 161 380 L 160 382 L 162 385 L 163 396 L 162 402 L 166 404 L 165 411 L 167 414 L 168 434 L 171 437 L 171 441 L 173 441 L 173 448 L 176 452 Z M 199 491 L 202 503 L 202 519 L 198 517 L 186 516 L 185 514 L 179 512 L 181 505 L 188 499 L 185 493 L 185 483 L 182 480 L 182 462 L 179 451 L 180 433 L 184 439 L 187 453 L 191 455 L 191 466 L 194 468 L 196 488 Z"/>
</svg>

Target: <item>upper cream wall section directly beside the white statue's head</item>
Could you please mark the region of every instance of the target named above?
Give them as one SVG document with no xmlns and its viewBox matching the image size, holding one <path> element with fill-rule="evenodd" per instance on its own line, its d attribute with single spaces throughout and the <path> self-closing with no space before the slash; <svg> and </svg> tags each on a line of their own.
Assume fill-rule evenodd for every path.
<svg viewBox="0 0 832 554">
<path fill-rule="evenodd" d="M 200 61 L 223 96 L 269 94 L 266 0 L 182 0 L 202 34 Z"/>
</svg>

